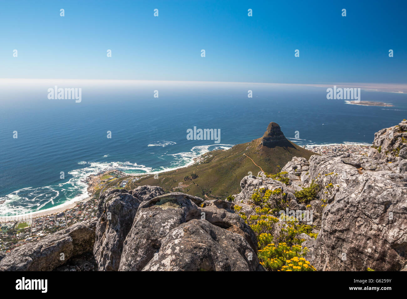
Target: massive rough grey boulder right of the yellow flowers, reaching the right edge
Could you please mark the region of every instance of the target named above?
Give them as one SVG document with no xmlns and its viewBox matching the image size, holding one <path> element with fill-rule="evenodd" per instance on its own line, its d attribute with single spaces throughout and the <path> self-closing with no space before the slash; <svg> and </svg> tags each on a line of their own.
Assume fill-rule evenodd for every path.
<svg viewBox="0 0 407 299">
<path fill-rule="evenodd" d="M 317 270 L 394 271 L 406 264 L 407 186 L 404 175 L 387 164 L 354 154 L 310 158 L 310 178 L 324 181 L 334 172 L 339 186 L 324 207 L 313 244 L 310 262 Z"/>
</svg>

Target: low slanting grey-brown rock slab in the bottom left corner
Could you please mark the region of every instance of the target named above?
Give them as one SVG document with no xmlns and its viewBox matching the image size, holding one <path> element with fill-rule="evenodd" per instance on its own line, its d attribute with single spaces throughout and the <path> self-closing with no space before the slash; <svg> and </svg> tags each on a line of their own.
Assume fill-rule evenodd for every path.
<svg viewBox="0 0 407 299">
<path fill-rule="evenodd" d="M 92 251 L 95 227 L 96 219 L 75 223 L 41 240 L 15 248 L 0 261 L 0 271 L 52 271 L 70 258 Z"/>
</svg>

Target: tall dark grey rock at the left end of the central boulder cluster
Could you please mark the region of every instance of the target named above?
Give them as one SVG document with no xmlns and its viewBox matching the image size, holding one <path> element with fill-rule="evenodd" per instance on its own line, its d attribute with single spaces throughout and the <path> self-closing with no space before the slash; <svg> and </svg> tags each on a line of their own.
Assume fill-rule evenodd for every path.
<svg viewBox="0 0 407 299">
<path fill-rule="evenodd" d="M 140 203 L 157 194 L 164 194 L 162 188 L 157 186 L 140 186 L 129 192 L 125 189 L 109 189 L 101 194 L 94 244 L 99 271 L 118 270 L 123 243 Z"/>
</svg>

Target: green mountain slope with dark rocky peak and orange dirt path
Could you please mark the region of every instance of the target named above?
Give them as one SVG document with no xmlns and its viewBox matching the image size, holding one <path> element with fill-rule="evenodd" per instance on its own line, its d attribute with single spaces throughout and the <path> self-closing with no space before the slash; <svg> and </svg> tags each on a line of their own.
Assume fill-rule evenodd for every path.
<svg viewBox="0 0 407 299">
<path fill-rule="evenodd" d="M 292 157 L 309 159 L 311 155 L 315 153 L 287 140 L 280 126 L 271 122 L 261 138 L 236 144 L 228 150 L 208 152 L 194 165 L 162 172 L 158 174 L 158 178 L 153 175 L 144 177 L 128 187 L 154 185 L 167 191 L 185 192 L 201 197 L 227 197 L 240 192 L 240 181 L 249 172 L 257 175 L 261 169 L 276 173 L 279 171 L 277 166 L 284 166 Z M 185 177 L 188 178 L 184 179 Z"/>
</svg>

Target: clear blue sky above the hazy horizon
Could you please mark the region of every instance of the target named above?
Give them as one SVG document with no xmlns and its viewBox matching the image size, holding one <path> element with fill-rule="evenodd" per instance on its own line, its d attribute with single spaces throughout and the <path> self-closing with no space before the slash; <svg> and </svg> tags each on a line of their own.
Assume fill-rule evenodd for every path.
<svg viewBox="0 0 407 299">
<path fill-rule="evenodd" d="M 0 6 L 0 78 L 407 83 L 406 1 L 16 0 Z"/>
</svg>

